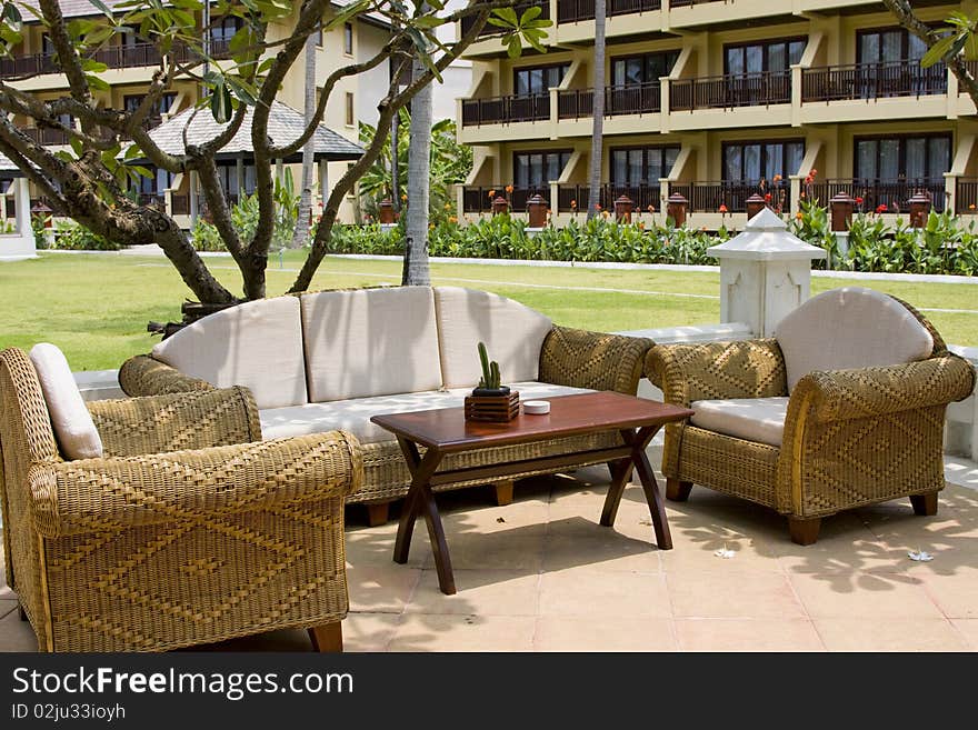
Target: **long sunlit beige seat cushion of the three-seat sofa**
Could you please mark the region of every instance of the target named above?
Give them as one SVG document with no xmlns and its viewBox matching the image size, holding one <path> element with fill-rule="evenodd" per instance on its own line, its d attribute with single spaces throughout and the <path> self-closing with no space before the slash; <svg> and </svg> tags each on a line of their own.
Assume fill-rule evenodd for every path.
<svg viewBox="0 0 978 730">
<path fill-rule="evenodd" d="M 512 387 L 519 390 L 520 400 L 589 392 L 580 388 L 541 382 L 520 382 L 513 383 Z M 393 436 L 390 431 L 371 423 L 371 416 L 453 408 L 461 406 L 465 402 L 465 397 L 470 392 L 470 388 L 456 388 L 448 391 L 353 398 L 331 403 L 309 403 L 297 408 L 265 410 L 260 413 L 261 436 L 267 440 L 345 429 L 355 433 L 363 443 L 391 441 Z"/>
</svg>

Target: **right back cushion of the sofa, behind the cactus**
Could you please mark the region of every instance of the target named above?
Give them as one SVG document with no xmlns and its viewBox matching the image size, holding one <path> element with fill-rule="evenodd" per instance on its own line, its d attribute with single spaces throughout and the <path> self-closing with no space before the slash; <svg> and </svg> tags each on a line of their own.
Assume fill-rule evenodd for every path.
<svg viewBox="0 0 978 730">
<path fill-rule="evenodd" d="M 479 384 L 479 342 L 499 363 L 503 384 L 539 378 L 549 317 L 506 297 L 459 287 L 437 287 L 435 307 L 446 388 Z"/>
</svg>

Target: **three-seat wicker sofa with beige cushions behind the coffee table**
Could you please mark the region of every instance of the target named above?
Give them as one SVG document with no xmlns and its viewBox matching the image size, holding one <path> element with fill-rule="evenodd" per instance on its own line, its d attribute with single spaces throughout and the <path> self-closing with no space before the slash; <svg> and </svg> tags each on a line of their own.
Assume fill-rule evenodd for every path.
<svg viewBox="0 0 978 730">
<path fill-rule="evenodd" d="M 348 501 L 366 503 L 377 524 L 389 502 L 407 493 L 410 476 L 397 441 L 370 417 L 460 406 L 479 381 L 479 341 L 523 400 L 581 390 L 635 394 L 652 346 L 558 327 L 486 291 L 372 288 L 278 297 L 211 314 L 128 360 L 119 381 L 130 396 L 244 386 L 255 393 L 265 438 L 352 432 L 363 448 L 365 484 Z M 613 438 L 478 451 L 446 460 L 446 468 L 597 448 Z M 511 493 L 512 482 L 497 484 L 500 503 Z"/>
</svg>

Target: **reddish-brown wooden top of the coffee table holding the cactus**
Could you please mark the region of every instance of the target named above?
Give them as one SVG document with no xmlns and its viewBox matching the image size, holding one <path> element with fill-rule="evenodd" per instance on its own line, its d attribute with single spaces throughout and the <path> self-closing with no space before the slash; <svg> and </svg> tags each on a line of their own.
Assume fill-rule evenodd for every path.
<svg viewBox="0 0 978 730">
<path fill-rule="evenodd" d="M 550 401 L 549 413 L 520 412 L 507 423 L 467 421 L 463 408 L 390 413 L 373 416 L 370 420 L 415 443 L 440 451 L 462 451 L 595 431 L 661 426 L 693 414 L 688 408 L 611 391 L 541 400 Z"/>
</svg>

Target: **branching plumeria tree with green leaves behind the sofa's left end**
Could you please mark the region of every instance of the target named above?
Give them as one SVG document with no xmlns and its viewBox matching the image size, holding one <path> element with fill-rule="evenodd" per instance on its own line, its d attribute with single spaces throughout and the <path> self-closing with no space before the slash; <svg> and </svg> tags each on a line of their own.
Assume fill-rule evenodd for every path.
<svg viewBox="0 0 978 730">
<path fill-rule="evenodd" d="M 402 0 L 351 0 L 337 9 L 329 0 L 211 0 L 211 18 L 240 19 L 240 30 L 231 38 L 228 59 L 210 58 L 201 29 L 204 3 L 201 0 L 124 0 L 110 9 L 101 0 L 90 0 L 98 19 L 66 19 L 57 0 L 23 3 L 8 0 L 0 4 L 0 54 L 12 56 L 19 48 L 23 21 L 31 16 L 48 33 L 67 91 L 56 99 L 27 91 L 20 79 L 0 81 L 0 152 L 13 161 L 36 186 L 59 216 L 82 223 L 93 232 L 132 246 L 158 243 L 193 294 L 204 303 L 232 303 L 243 296 L 266 296 L 266 268 L 275 227 L 275 181 L 272 161 L 302 150 L 322 120 L 333 90 L 343 79 L 370 71 L 389 62 L 400 71 L 421 61 L 403 87 L 392 83 L 378 103 L 378 129 L 389 130 L 398 110 L 419 89 L 439 78 L 480 34 L 490 14 L 500 8 L 509 12 L 491 20 L 502 30 L 507 48 L 520 47 L 520 38 L 538 44 L 539 28 L 532 19 L 523 23 L 512 13 L 513 0 L 486 0 L 448 11 L 442 0 L 405 2 Z M 326 79 L 319 102 L 301 136 L 276 146 L 269 138 L 269 111 L 286 76 L 303 56 L 307 38 L 320 28 L 341 28 L 360 16 L 370 14 L 391 27 L 388 42 L 371 58 L 340 67 Z M 446 43 L 433 32 L 446 22 L 471 17 L 471 24 L 456 42 Z M 285 28 L 286 32 L 270 32 Z M 203 30 L 203 32 L 201 32 Z M 99 49 L 118 33 L 128 33 L 159 50 L 160 61 L 152 73 L 141 103 L 134 109 L 112 109 L 97 102 L 99 91 L 108 89 L 106 66 L 94 60 Z M 516 40 L 513 40 L 516 39 Z M 147 133 L 146 120 L 158 108 L 163 94 L 178 81 L 190 80 L 203 87 L 199 109 L 226 123 L 214 139 L 186 143 L 183 154 L 161 150 Z M 253 110 L 251 144 L 256 167 L 256 194 L 259 222 L 253 236 L 242 239 L 231 221 L 227 198 L 216 163 L 220 150 L 234 137 Z M 29 137 L 11 117 L 30 120 L 41 129 L 66 134 L 70 151 L 54 151 Z M 78 120 L 78 124 L 66 123 Z M 327 251 L 340 202 L 356 181 L 377 160 L 387 134 L 375 137 L 366 153 L 337 181 L 323 206 L 323 213 L 309 253 L 290 291 L 307 289 Z M 242 278 L 241 296 L 226 289 L 208 270 L 177 221 L 166 212 L 142 207 L 127 197 L 133 178 L 147 174 L 139 166 L 127 163 L 149 160 L 158 169 L 172 173 L 194 171 L 200 179 L 204 203 Z"/>
</svg>

